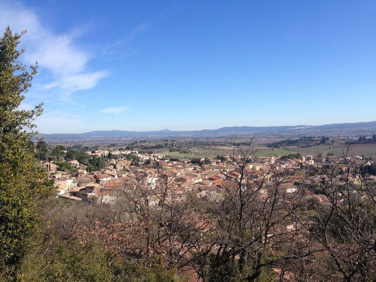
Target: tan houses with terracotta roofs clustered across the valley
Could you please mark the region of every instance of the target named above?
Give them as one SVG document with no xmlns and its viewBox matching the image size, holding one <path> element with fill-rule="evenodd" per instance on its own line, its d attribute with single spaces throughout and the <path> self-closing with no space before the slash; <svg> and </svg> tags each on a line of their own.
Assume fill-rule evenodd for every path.
<svg viewBox="0 0 376 282">
<path fill-rule="evenodd" d="M 108 151 L 96 151 L 95 153 L 87 152 L 92 155 L 108 155 Z M 42 167 L 50 172 L 50 177 L 55 181 L 57 197 L 65 200 L 74 200 L 90 204 L 111 204 L 117 199 L 118 191 L 130 189 L 135 185 L 138 179 L 143 178 L 144 185 L 148 189 L 154 189 L 162 184 L 162 181 L 168 179 L 170 183 L 170 195 L 185 199 L 186 193 L 194 193 L 199 198 L 208 200 L 221 199 L 225 196 L 224 180 L 229 176 L 233 179 L 240 179 L 241 175 L 237 171 L 237 167 L 232 164 L 231 159 L 240 160 L 241 156 L 225 156 L 228 162 L 221 162 L 212 159 L 210 165 L 197 165 L 187 162 L 176 162 L 161 160 L 163 155 L 141 155 L 136 151 L 120 151 L 114 150 L 111 152 L 114 155 L 133 154 L 138 156 L 142 161 L 150 160 L 151 164 L 147 167 L 134 167 L 131 161 L 126 159 L 112 159 L 109 163 L 115 165 L 108 166 L 100 171 L 91 171 L 87 173 L 86 170 L 80 168 L 80 164 L 76 160 L 69 161 L 72 167 L 78 168 L 76 174 L 63 174 L 57 172 L 58 166 L 51 162 L 44 162 Z M 360 160 L 355 157 L 351 161 Z M 204 159 L 203 159 L 204 160 Z M 202 161 L 203 161 L 202 160 Z M 288 169 L 292 175 L 288 177 L 281 186 L 285 193 L 294 193 L 297 188 L 294 183 L 296 181 L 306 182 L 322 182 L 327 180 L 325 176 L 312 176 L 310 179 L 305 179 L 302 174 L 293 174 L 294 171 L 302 171 L 302 165 L 306 167 L 318 167 L 328 162 L 340 163 L 344 160 L 342 156 L 328 156 L 327 159 L 314 158 L 307 155 L 300 159 L 287 159 L 281 161 L 279 157 L 270 156 L 265 159 L 257 159 L 257 162 L 251 162 L 244 168 L 247 177 L 252 179 L 263 179 L 267 184 L 273 177 L 270 173 L 271 166 L 275 170 Z M 347 160 L 349 161 L 349 160 Z M 156 165 L 158 164 L 158 165 Z M 158 167 L 163 165 L 163 176 Z M 338 181 L 347 180 L 356 181 L 358 176 L 355 173 L 347 172 L 345 176 L 340 176 Z M 372 179 L 373 180 L 373 179 Z M 373 180 L 375 181 L 375 180 Z M 151 199 L 150 203 L 158 205 L 158 197 Z M 319 200 L 322 200 L 321 198 Z"/>
</svg>

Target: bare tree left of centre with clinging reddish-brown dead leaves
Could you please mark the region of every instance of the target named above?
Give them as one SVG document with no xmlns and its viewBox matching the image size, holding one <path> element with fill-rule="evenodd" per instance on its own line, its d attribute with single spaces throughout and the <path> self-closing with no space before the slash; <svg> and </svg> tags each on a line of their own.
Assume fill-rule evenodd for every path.
<svg viewBox="0 0 376 282">
<path fill-rule="evenodd" d="M 178 271 L 192 265 L 192 250 L 201 244 L 208 221 L 196 211 L 196 194 L 175 180 L 166 165 L 136 173 L 117 191 L 116 220 L 98 226 L 94 235 L 127 259 L 151 263 L 158 256 L 167 269 Z"/>
</svg>

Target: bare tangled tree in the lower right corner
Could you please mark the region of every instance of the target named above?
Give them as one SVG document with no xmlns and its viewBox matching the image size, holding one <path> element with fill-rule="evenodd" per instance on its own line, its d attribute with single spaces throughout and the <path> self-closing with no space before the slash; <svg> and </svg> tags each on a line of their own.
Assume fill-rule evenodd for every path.
<svg viewBox="0 0 376 282">
<path fill-rule="evenodd" d="M 349 150 L 350 144 L 343 154 L 345 160 Z M 300 202 L 300 209 L 287 203 L 299 225 L 300 246 L 305 245 L 300 249 L 292 248 L 289 271 L 296 271 L 296 266 L 301 265 L 295 277 L 296 280 L 305 277 L 304 281 L 374 281 L 374 183 L 359 175 L 351 161 L 347 161 L 346 179 L 336 178 L 335 169 L 334 166 L 321 171 L 321 180 L 307 188 L 317 195 Z"/>
</svg>

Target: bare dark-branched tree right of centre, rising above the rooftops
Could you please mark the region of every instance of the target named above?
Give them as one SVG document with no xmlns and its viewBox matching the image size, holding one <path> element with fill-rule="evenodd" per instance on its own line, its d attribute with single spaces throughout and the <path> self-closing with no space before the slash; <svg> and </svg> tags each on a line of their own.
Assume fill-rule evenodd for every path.
<svg viewBox="0 0 376 282">
<path fill-rule="evenodd" d="M 255 178 L 247 166 L 257 152 L 253 138 L 240 142 L 232 139 L 234 173 L 221 167 L 225 198 L 213 211 L 216 218 L 217 245 L 211 255 L 209 279 L 229 277 L 253 281 L 270 271 L 275 264 L 274 246 L 283 237 L 280 227 L 287 222 L 288 213 L 281 197 L 279 184 L 286 175 L 278 177 L 279 169 L 271 161 L 267 170 Z M 269 178 L 273 176 L 273 181 Z M 268 275 L 268 274 L 267 274 Z"/>
</svg>

